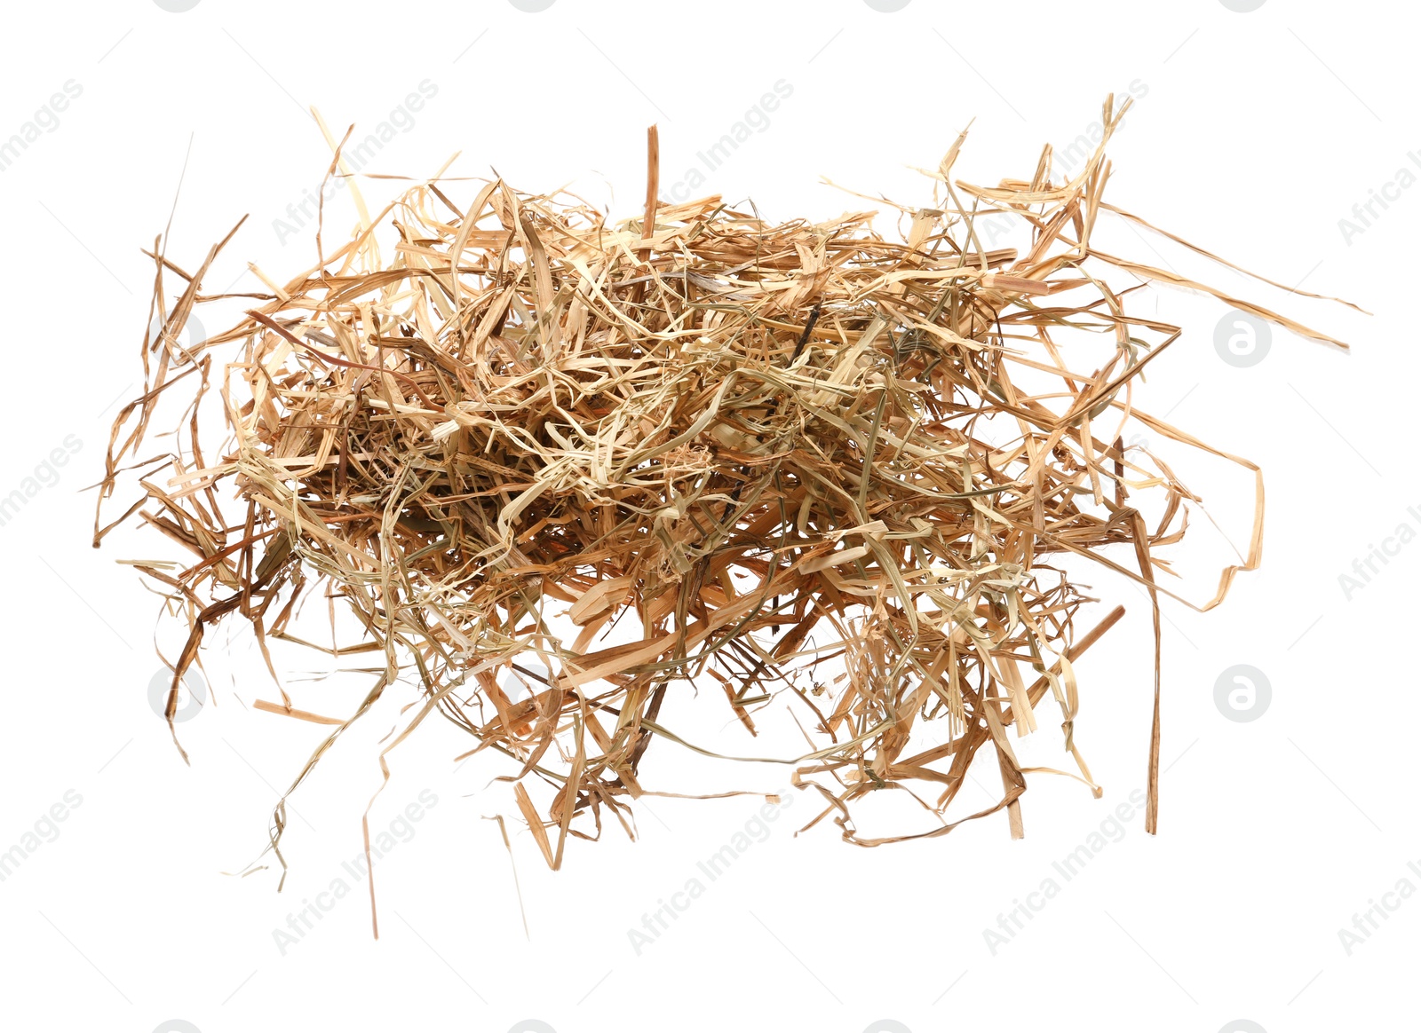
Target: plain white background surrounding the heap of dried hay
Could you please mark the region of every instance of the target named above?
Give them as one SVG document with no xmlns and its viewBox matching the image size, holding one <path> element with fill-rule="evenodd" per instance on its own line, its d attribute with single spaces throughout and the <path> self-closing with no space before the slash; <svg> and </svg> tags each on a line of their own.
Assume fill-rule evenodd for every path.
<svg viewBox="0 0 1421 1033">
<path fill-rule="evenodd" d="M 524 13 L 504 0 L 202 0 L 169 13 L 112 0 L 10 4 L 4 18 L 0 138 L 65 81 L 82 94 L 0 173 L 10 312 L 0 495 L 68 436 L 82 447 L 58 484 L 0 528 L 0 850 L 67 790 L 82 803 L 0 883 L 0 1026 L 1412 1026 L 1421 897 L 1390 898 L 1400 907 L 1350 954 L 1339 938 L 1400 880 L 1421 888 L 1407 868 L 1421 867 L 1411 759 L 1421 546 L 1400 549 L 1350 599 L 1339 583 L 1398 525 L 1421 528 L 1408 514 L 1421 507 L 1411 423 L 1421 190 L 1376 209 L 1381 217 L 1350 243 L 1339 227 L 1421 148 L 1414 27 L 1400 6 L 912 0 L 880 13 L 861 0 L 557 0 Z M 270 698 L 269 683 L 219 683 L 216 707 L 180 725 L 192 766 L 182 763 L 146 700 L 158 597 L 114 562 L 166 553 L 153 536 L 90 549 L 92 494 L 81 490 L 101 475 L 112 404 L 139 379 L 152 282 L 139 248 L 163 230 L 189 145 L 168 254 L 192 268 L 250 213 L 206 285 L 257 289 L 247 261 L 283 280 L 313 261 L 308 230 L 284 243 L 273 230 L 330 158 L 306 106 L 337 132 L 371 128 L 425 79 L 436 95 L 367 172 L 426 176 L 460 150 L 452 175 L 492 166 L 529 190 L 573 182 L 617 217 L 638 211 L 649 122 L 675 179 L 784 79 L 793 95 L 705 189 L 750 196 L 773 219 L 861 207 L 820 176 L 924 203 L 926 182 L 908 166 L 935 166 L 972 119 L 958 175 L 1029 177 L 1043 143 L 1067 145 L 1107 94 L 1140 81 L 1147 94 L 1113 148 L 1107 196 L 1376 314 L 1248 285 L 1118 224 L 1101 230 L 1115 253 L 1208 272 L 1354 345 L 1349 355 L 1276 331 L 1266 358 L 1241 369 L 1214 348 L 1225 305 L 1134 295 L 1137 311 L 1188 328 L 1137 402 L 1260 463 L 1269 491 L 1265 569 L 1212 613 L 1167 609 L 1158 837 L 1141 816 L 1124 823 L 1007 945 L 988 946 L 983 929 L 1144 780 L 1148 610 L 1130 586 L 1098 578 L 1101 613 L 1115 599 L 1130 607 L 1080 664 L 1077 735 L 1107 792 L 1093 800 L 1074 782 L 1032 778 L 1023 841 L 1009 839 L 1005 814 L 877 850 L 841 843 L 828 823 L 796 837 L 813 813 L 800 797 L 784 816 L 794 824 L 777 822 L 638 955 L 628 928 L 696 875 L 696 860 L 759 802 L 657 800 L 639 810 L 639 841 L 617 830 L 574 841 L 564 870 L 549 873 L 506 790 L 455 772 L 465 744 L 431 724 L 394 755 L 371 812 L 381 829 L 421 790 L 438 800 L 377 867 L 381 938 L 371 938 L 364 884 L 347 877 L 355 893 L 277 948 L 273 929 L 360 854 L 360 813 L 379 785 L 377 739 L 396 709 L 372 714 L 293 797 L 281 894 L 273 870 L 223 874 L 260 853 L 270 806 L 321 731 L 249 709 Z M 395 184 L 365 189 L 384 199 Z M 342 200 L 327 231 L 352 220 Z M 1248 478 L 1208 464 L 1199 477 L 1241 539 Z M 1212 587 L 1205 576 L 1185 590 L 1202 600 Z M 250 653 L 250 636 L 233 643 Z M 1256 721 L 1215 705 L 1215 681 L 1233 664 L 1272 685 Z M 1056 735 L 1053 721 L 1042 735 Z M 726 778 L 757 790 L 784 783 L 783 769 L 735 769 L 701 788 Z M 509 854 L 483 820 L 495 813 L 510 819 L 529 938 Z M 163 1024 L 172 1019 L 190 1026 Z M 517 1024 L 527 1019 L 544 1026 Z M 874 1026 L 885 1019 L 899 1024 Z"/>
</svg>

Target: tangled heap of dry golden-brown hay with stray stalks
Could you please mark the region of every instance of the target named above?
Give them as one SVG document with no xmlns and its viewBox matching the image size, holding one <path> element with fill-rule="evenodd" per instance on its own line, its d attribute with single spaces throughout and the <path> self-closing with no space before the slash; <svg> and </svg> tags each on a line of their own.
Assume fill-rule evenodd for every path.
<svg viewBox="0 0 1421 1033">
<path fill-rule="evenodd" d="M 1074 553 L 1155 603 L 1152 832 L 1154 553 L 1198 499 L 1148 453 L 1127 454 L 1121 427 L 1134 419 L 1258 468 L 1131 404 L 1179 329 L 1127 315 L 1130 291 L 1087 264 L 1223 295 L 1091 247 L 1103 209 L 1134 219 L 1101 200 L 1123 114 L 1107 102 L 1100 149 L 1064 183 L 1049 148 L 1030 180 L 953 182 L 959 138 L 928 173 L 932 206 L 899 209 L 902 243 L 874 233 L 867 211 L 770 226 L 719 197 L 658 204 L 654 132 L 639 221 L 608 226 L 574 197 L 502 182 L 455 204 L 425 182 L 374 220 L 361 204 L 352 240 L 247 295 L 260 306 L 195 348 L 178 335 L 210 301 L 200 282 L 222 244 L 190 275 L 155 248 L 163 332 L 144 342 L 145 390 L 114 423 L 101 495 L 138 464 L 162 396 L 183 394 L 185 416 L 171 454 L 142 463 L 144 497 L 95 521 L 95 545 L 138 514 L 198 558 L 176 572 L 138 563 L 190 627 L 169 718 L 213 624 L 240 614 L 264 647 L 324 593 L 385 667 L 348 718 L 297 709 L 284 691 L 260 704 L 337 725 L 293 788 L 416 671 L 423 705 L 395 742 L 438 711 L 475 752 L 512 758 L 519 807 L 558 867 L 568 833 L 584 834 L 576 819 L 590 812 L 600 829 L 603 807 L 624 819 L 648 748 L 698 748 L 659 714 L 699 684 L 718 691 L 696 705 L 726 708 L 750 735 L 772 700 L 800 712 L 810 752 L 782 759 L 823 795 L 814 820 L 833 814 L 845 840 L 888 841 L 860 837 L 851 807 L 914 783 L 931 789 L 932 824 L 894 839 L 1000 809 L 1020 834 L 1026 778 L 1009 729 L 1034 731 L 1047 695 L 1098 795 L 1073 741 L 1071 660 L 1123 610 L 1079 627 L 1090 600 L 1044 563 Z M 342 167 L 337 150 L 330 175 Z M 1029 250 L 985 251 L 973 220 L 988 213 L 1029 224 Z M 385 216 L 398 233 L 388 260 L 374 236 Z M 186 282 L 171 312 L 165 275 Z M 215 359 L 230 427 L 220 450 L 199 440 L 196 417 Z M 989 441 L 1003 420 L 1012 433 Z M 1256 484 L 1248 555 L 1201 609 L 1259 560 Z M 1148 497 L 1152 525 L 1138 508 Z M 1128 546 L 1120 562 L 1111 545 Z M 566 636 L 564 604 L 580 629 Z M 628 610 L 625 641 L 598 643 Z M 834 641 L 810 644 L 814 629 Z M 811 677 L 826 663 L 837 681 Z M 510 700 L 499 684 L 510 664 L 546 667 L 546 688 Z M 1002 797 L 949 822 L 988 745 Z M 283 826 L 279 806 L 273 846 Z"/>
</svg>

